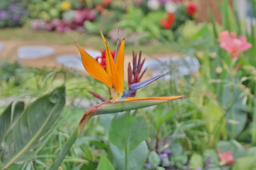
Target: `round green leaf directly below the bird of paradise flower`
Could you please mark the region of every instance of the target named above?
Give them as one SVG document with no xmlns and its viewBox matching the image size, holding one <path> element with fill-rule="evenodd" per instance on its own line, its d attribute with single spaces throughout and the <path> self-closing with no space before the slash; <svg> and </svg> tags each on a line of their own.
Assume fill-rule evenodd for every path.
<svg viewBox="0 0 256 170">
<path fill-rule="evenodd" d="M 116 115 L 109 130 L 109 140 L 119 149 L 125 150 L 128 143 L 129 151 L 134 150 L 148 138 L 148 125 L 143 117 L 131 116 L 130 113 Z"/>
</svg>

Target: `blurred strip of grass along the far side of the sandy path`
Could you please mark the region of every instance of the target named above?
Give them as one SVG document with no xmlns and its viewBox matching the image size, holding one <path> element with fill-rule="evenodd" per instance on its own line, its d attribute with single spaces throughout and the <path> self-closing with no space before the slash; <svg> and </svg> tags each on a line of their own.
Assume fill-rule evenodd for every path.
<svg viewBox="0 0 256 170">
<path fill-rule="evenodd" d="M 67 32 L 65 34 L 58 34 L 57 32 L 51 31 L 34 31 L 28 26 L 22 28 L 4 28 L 1 30 L 0 40 L 22 40 L 22 41 L 41 41 L 41 42 L 52 42 L 62 45 L 74 45 L 72 37 L 77 37 L 79 45 L 91 47 L 94 49 L 101 50 L 104 48 L 102 39 L 100 36 L 79 34 L 77 31 Z M 111 49 L 115 49 L 116 45 L 112 42 L 108 42 Z M 182 43 L 186 46 L 185 42 Z M 187 45 L 189 46 L 189 45 Z M 126 45 L 125 53 L 131 54 L 132 51 L 145 51 L 147 54 L 166 54 L 178 51 L 176 42 L 166 43 L 154 43 L 150 45 Z"/>
</svg>

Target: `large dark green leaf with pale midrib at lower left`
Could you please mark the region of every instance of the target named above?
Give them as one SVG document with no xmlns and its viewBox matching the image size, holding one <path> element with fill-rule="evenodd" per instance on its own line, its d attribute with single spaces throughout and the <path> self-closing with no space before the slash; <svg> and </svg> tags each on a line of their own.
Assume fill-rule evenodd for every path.
<svg viewBox="0 0 256 170">
<path fill-rule="evenodd" d="M 1 157 L 4 164 L 2 169 L 35 157 L 34 149 L 60 118 L 65 98 L 66 88 L 61 86 L 39 97 L 26 108 L 6 135 L 6 147 L 3 147 L 4 153 Z"/>
</svg>

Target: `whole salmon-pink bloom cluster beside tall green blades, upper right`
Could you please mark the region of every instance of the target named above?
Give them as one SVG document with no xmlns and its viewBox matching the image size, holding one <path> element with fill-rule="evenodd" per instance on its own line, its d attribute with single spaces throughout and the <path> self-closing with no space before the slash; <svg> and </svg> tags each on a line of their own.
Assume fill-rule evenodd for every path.
<svg viewBox="0 0 256 170">
<path fill-rule="evenodd" d="M 228 30 L 222 31 L 218 35 L 218 42 L 220 42 L 220 47 L 230 53 L 231 57 L 239 58 L 240 54 L 247 51 L 252 47 L 250 42 L 244 35 L 240 37 L 237 36 L 236 32 L 229 32 Z"/>
</svg>

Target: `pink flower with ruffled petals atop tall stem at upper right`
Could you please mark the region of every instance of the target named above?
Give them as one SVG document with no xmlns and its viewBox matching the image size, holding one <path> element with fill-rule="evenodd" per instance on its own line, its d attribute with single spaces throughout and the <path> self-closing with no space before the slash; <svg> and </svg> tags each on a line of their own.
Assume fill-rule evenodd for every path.
<svg viewBox="0 0 256 170">
<path fill-rule="evenodd" d="M 252 47 L 252 44 L 247 42 L 246 37 L 243 35 L 240 38 L 228 36 L 221 42 L 220 47 L 229 52 L 231 57 L 239 58 L 243 51 L 247 51 Z"/>
</svg>

